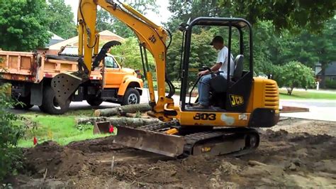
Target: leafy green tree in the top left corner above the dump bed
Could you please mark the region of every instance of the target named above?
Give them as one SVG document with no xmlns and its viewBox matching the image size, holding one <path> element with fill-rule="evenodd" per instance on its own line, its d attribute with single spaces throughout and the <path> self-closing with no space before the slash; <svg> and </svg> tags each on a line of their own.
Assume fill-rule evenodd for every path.
<svg viewBox="0 0 336 189">
<path fill-rule="evenodd" d="M 49 41 L 45 0 L 0 1 L 0 48 L 33 50 Z"/>
</svg>

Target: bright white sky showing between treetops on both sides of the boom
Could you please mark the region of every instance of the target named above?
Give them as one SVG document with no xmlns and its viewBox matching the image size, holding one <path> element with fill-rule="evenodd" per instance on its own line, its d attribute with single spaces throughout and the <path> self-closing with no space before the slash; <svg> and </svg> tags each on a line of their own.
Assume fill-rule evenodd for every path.
<svg viewBox="0 0 336 189">
<path fill-rule="evenodd" d="M 121 0 L 122 1 L 122 0 Z M 153 11 L 148 11 L 146 14 L 147 18 L 150 18 L 154 23 L 161 25 L 161 23 L 167 22 L 168 18 L 172 15 L 168 10 L 169 1 L 168 0 L 156 0 L 159 4 L 159 14 L 154 13 Z M 77 9 L 79 0 L 65 0 L 65 4 L 68 4 L 72 7 L 72 12 L 74 13 L 74 21 L 77 23 Z"/>
</svg>

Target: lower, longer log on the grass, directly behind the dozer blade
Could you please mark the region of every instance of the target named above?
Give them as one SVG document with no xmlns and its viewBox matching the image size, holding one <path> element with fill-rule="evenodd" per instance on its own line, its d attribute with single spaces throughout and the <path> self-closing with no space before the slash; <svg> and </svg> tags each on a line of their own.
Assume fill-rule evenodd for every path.
<svg viewBox="0 0 336 189">
<path fill-rule="evenodd" d="M 94 124 L 94 121 L 110 121 L 113 126 L 133 126 L 138 127 L 147 124 L 158 124 L 159 119 L 142 119 L 130 117 L 78 117 L 75 118 L 76 124 Z"/>
</svg>

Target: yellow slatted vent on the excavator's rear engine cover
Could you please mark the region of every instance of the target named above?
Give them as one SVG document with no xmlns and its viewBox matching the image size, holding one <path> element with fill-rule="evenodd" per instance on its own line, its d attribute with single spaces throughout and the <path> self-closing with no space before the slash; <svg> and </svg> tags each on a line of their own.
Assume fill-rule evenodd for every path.
<svg viewBox="0 0 336 189">
<path fill-rule="evenodd" d="M 279 90 L 278 85 L 273 80 L 268 80 L 265 85 L 264 107 L 279 109 Z"/>
</svg>

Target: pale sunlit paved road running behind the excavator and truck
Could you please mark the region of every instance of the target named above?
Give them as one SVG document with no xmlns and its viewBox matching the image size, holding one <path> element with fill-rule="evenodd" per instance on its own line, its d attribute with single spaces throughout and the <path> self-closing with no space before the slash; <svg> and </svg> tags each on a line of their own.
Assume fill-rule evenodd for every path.
<svg viewBox="0 0 336 189">
<path fill-rule="evenodd" d="M 157 94 L 156 94 L 157 97 Z M 174 95 L 174 102 L 175 104 L 179 104 L 179 96 Z M 193 98 L 194 99 L 194 98 Z M 192 99 L 192 100 L 193 100 Z M 148 95 L 147 91 L 144 90 L 142 93 L 142 97 L 140 103 L 147 103 L 148 102 Z M 103 102 L 101 104 L 101 108 L 107 107 L 116 107 L 119 104 L 113 104 L 108 102 Z M 325 121 L 336 121 L 336 100 L 319 100 L 319 99 L 281 99 L 280 100 L 280 107 L 281 106 L 291 106 L 291 107 L 308 107 L 310 112 L 299 112 L 299 113 L 287 113 L 281 114 L 284 117 L 297 117 L 303 119 L 317 119 L 317 120 L 325 120 Z M 77 109 L 91 109 L 90 105 L 83 102 L 72 102 L 70 104 L 71 110 Z M 40 112 L 38 107 L 33 107 L 30 109 L 32 112 Z M 18 111 L 13 110 L 16 113 L 25 113 L 25 111 Z"/>
</svg>

